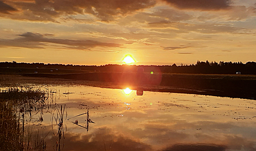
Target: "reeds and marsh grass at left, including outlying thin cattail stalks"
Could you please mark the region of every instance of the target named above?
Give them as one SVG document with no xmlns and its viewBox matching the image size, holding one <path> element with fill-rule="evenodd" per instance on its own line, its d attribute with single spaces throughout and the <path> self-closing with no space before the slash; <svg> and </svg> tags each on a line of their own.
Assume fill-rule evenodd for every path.
<svg viewBox="0 0 256 151">
<path fill-rule="evenodd" d="M 45 150 L 45 137 L 40 129 L 36 129 L 44 121 L 44 112 L 51 114 L 52 130 L 57 127 L 56 150 L 64 139 L 63 119 L 66 118 L 66 106 L 54 102 L 54 90 L 9 87 L 0 92 L 0 143 L 1 150 Z M 39 124 L 34 124 L 38 122 Z M 62 141 L 62 143 L 61 143 Z"/>
</svg>

